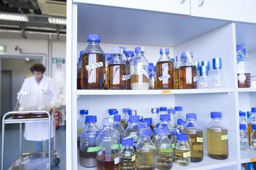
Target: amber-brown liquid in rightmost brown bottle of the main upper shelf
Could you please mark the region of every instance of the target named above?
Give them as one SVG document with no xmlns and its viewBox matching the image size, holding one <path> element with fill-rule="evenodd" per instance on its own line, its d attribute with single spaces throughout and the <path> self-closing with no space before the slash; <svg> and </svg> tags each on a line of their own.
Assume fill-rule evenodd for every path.
<svg viewBox="0 0 256 170">
<path fill-rule="evenodd" d="M 197 88 L 197 71 L 195 65 L 180 66 L 180 89 L 196 89 Z"/>
</svg>

